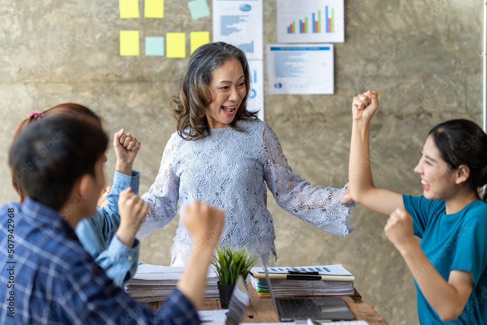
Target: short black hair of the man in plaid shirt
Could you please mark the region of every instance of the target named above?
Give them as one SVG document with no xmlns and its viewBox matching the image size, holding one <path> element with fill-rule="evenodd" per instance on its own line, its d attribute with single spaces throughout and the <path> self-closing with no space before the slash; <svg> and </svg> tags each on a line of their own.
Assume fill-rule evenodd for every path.
<svg viewBox="0 0 487 325">
<path fill-rule="evenodd" d="M 60 210 L 76 180 L 94 175 L 108 136 L 92 117 L 59 114 L 29 125 L 9 152 L 13 179 L 32 199 Z"/>
</svg>

